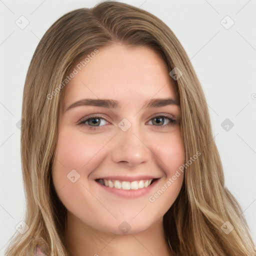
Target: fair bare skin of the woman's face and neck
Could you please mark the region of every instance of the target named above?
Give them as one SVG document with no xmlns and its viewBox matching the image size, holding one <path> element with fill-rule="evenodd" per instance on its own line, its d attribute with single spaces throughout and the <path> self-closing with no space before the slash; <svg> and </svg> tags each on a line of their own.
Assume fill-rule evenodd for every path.
<svg viewBox="0 0 256 256">
<path fill-rule="evenodd" d="M 153 117 L 167 114 L 177 120 L 180 109 L 175 104 L 146 108 L 144 103 L 151 98 L 175 99 L 172 78 L 159 55 L 146 46 L 113 43 L 98 50 L 66 85 L 58 120 L 52 178 L 68 210 L 66 245 L 75 256 L 171 255 L 162 217 L 180 191 L 183 173 L 153 202 L 148 197 L 184 163 L 179 124 L 165 118 L 157 125 Z M 121 106 L 66 110 L 83 98 L 115 99 Z M 89 114 L 106 119 L 98 122 L 101 128 L 88 129 L 91 121 L 77 124 Z M 123 118 L 131 124 L 126 131 L 118 126 Z M 80 175 L 74 183 L 67 178 L 72 169 Z M 124 198 L 95 181 L 116 175 L 159 179 L 145 195 Z M 130 226 L 126 233 L 118 228 L 123 221 Z"/>
</svg>

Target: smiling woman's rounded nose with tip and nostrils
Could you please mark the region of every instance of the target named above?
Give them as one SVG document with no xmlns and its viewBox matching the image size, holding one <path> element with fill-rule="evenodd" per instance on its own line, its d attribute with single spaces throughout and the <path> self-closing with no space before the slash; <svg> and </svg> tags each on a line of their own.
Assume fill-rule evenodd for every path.
<svg viewBox="0 0 256 256">
<path fill-rule="evenodd" d="M 134 125 L 126 131 L 118 129 L 114 136 L 111 158 L 116 163 L 130 167 L 146 163 L 152 154 L 148 142 L 148 138 L 142 136 L 139 128 L 135 128 Z"/>
</svg>

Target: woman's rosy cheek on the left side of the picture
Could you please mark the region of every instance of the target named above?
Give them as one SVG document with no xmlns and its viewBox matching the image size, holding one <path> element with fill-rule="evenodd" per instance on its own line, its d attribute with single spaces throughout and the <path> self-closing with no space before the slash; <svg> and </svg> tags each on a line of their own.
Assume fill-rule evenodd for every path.
<svg viewBox="0 0 256 256">
<path fill-rule="evenodd" d="M 84 134 L 69 129 L 60 129 L 52 179 L 62 202 L 69 204 L 81 194 L 82 185 L 87 185 L 87 176 L 97 164 L 100 148 L 105 139 L 95 140 L 93 136 L 84 138 Z"/>
</svg>

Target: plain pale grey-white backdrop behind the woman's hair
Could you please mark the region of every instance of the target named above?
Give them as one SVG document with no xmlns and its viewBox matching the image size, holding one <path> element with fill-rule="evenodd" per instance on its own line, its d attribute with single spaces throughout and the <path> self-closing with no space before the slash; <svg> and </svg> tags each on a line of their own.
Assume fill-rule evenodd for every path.
<svg viewBox="0 0 256 256">
<path fill-rule="evenodd" d="M 98 2 L 0 0 L 0 255 L 24 216 L 19 120 L 32 54 L 56 19 Z M 240 203 L 256 242 L 256 1 L 123 2 L 159 17 L 185 48 L 206 96 L 225 185 Z M 29 22 L 24 28 L 17 25 L 21 18 L 23 25 Z"/>
</svg>

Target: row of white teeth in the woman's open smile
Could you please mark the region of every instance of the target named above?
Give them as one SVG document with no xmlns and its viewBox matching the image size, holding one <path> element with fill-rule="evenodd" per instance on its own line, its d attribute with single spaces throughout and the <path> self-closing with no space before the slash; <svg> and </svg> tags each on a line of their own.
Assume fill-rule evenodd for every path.
<svg viewBox="0 0 256 256">
<path fill-rule="evenodd" d="M 135 180 L 135 181 L 120 181 L 120 180 L 111 180 L 111 179 L 98 179 L 98 182 L 102 185 L 105 186 L 109 186 L 109 187 L 115 187 L 115 188 L 119 188 L 119 189 L 125 189 L 125 190 L 129 190 L 129 189 L 139 189 L 139 188 L 144 188 L 144 187 L 148 187 L 151 182 L 152 182 L 152 178 L 151 179 L 142 179 L 142 180 Z"/>
</svg>

